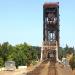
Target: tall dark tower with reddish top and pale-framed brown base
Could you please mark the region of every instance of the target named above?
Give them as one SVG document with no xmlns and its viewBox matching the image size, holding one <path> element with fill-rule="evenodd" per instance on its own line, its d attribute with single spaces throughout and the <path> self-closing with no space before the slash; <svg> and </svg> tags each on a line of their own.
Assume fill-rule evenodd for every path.
<svg viewBox="0 0 75 75">
<path fill-rule="evenodd" d="M 59 47 L 59 3 L 43 5 L 43 44 L 41 59 L 58 60 Z"/>
</svg>

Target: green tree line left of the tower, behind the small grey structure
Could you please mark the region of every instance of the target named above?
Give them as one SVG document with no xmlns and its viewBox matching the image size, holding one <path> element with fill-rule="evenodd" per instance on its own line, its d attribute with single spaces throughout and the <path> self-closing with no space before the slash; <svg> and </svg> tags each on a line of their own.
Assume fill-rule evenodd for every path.
<svg viewBox="0 0 75 75">
<path fill-rule="evenodd" d="M 30 65 L 40 58 L 40 47 L 30 46 L 27 43 L 15 46 L 4 42 L 0 44 L 0 67 L 6 61 L 15 61 L 16 67 L 19 65 Z"/>
</svg>

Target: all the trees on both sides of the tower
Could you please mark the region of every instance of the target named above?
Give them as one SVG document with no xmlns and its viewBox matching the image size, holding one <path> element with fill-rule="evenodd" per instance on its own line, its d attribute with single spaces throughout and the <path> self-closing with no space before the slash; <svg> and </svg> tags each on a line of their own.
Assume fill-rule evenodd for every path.
<svg viewBox="0 0 75 75">
<path fill-rule="evenodd" d="M 6 61 L 15 61 L 16 67 L 19 65 L 34 64 L 35 61 L 40 59 L 41 47 L 30 46 L 27 43 L 17 44 L 15 46 L 4 42 L 0 44 L 0 67 L 3 67 Z M 69 58 L 69 63 L 72 68 L 75 68 L 75 50 L 74 47 L 59 47 L 58 57 Z"/>
</svg>

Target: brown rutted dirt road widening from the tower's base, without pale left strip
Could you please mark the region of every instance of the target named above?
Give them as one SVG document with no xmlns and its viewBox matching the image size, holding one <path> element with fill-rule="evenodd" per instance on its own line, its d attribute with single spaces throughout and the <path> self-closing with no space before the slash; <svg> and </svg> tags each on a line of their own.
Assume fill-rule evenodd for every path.
<svg viewBox="0 0 75 75">
<path fill-rule="evenodd" d="M 27 75 L 73 75 L 73 72 L 69 66 L 46 61 Z"/>
</svg>

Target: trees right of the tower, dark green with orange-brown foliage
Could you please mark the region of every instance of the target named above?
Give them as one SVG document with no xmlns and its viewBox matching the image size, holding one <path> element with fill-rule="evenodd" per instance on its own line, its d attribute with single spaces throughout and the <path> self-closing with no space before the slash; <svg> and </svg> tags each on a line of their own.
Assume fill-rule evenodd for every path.
<svg viewBox="0 0 75 75">
<path fill-rule="evenodd" d="M 66 44 L 66 47 L 64 47 L 64 48 L 59 47 L 58 57 L 60 60 L 62 60 L 62 58 L 67 58 L 69 60 L 69 64 L 70 64 L 71 68 L 72 69 L 75 68 L 75 50 L 74 50 L 74 47 L 69 47 L 67 44 Z"/>
</svg>

